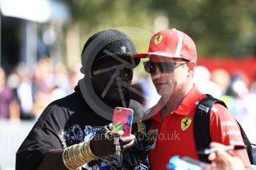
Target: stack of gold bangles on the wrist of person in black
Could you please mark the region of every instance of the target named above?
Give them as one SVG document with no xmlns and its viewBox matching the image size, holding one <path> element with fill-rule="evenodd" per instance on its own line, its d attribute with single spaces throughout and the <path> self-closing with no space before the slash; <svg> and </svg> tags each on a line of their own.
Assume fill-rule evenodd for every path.
<svg viewBox="0 0 256 170">
<path fill-rule="evenodd" d="M 62 152 L 62 160 L 70 170 L 79 169 L 80 166 L 97 157 L 91 152 L 90 140 L 65 148 Z"/>
</svg>

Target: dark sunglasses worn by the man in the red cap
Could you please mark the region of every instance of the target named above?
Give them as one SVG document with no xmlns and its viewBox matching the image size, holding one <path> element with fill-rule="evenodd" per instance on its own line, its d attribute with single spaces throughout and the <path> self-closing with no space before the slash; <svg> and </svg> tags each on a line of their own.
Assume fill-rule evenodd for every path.
<svg viewBox="0 0 256 170">
<path fill-rule="evenodd" d="M 152 62 L 152 61 L 145 61 L 144 69 L 148 73 L 154 73 L 156 72 L 157 67 L 160 69 L 160 72 L 162 73 L 171 73 L 174 72 L 174 69 L 177 65 L 180 64 L 186 64 L 188 61 L 177 61 L 177 62 Z"/>
</svg>

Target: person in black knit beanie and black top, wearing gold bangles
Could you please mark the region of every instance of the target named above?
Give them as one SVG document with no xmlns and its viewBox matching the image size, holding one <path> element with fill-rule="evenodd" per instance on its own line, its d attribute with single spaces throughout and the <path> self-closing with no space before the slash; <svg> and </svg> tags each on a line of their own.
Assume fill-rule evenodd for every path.
<svg viewBox="0 0 256 170">
<path fill-rule="evenodd" d="M 148 169 L 140 103 L 131 100 L 133 69 L 140 59 L 134 43 L 119 30 L 88 38 L 82 50 L 75 92 L 53 101 L 42 112 L 16 153 L 16 169 Z M 116 106 L 134 109 L 134 135 L 109 128 Z M 138 122 L 138 123 L 137 123 Z M 139 125 L 140 124 L 140 125 Z M 122 154 L 116 154 L 115 139 Z"/>
</svg>

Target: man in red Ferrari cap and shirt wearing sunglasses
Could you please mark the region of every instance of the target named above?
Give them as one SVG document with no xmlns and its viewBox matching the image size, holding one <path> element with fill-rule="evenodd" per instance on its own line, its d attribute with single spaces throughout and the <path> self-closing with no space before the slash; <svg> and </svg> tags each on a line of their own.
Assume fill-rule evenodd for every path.
<svg viewBox="0 0 256 170">
<path fill-rule="evenodd" d="M 180 30 L 162 30 L 151 38 L 148 52 L 134 58 L 149 58 L 145 71 L 159 95 L 160 101 L 150 109 L 148 156 L 152 169 L 165 169 L 168 160 L 176 154 L 199 159 L 194 143 L 194 113 L 197 103 L 206 95 L 193 82 L 197 64 L 194 41 Z M 244 145 L 240 129 L 229 110 L 214 104 L 209 121 L 211 141 L 224 145 Z M 246 149 L 234 154 L 252 169 Z"/>
</svg>

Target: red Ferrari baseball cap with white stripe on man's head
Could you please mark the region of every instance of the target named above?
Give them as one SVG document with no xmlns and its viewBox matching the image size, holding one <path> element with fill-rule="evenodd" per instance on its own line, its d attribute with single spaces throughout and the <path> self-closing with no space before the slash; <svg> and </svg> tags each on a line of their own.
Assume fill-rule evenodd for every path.
<svg viewBox="0 0 256 170">
<path fill-rule="evenodd" d="M 149 58 L 151 55 L 197 61 L 197 48 L 186 33 L 173 28 L 154 34 L 148 52 L 135 54 L 134 58 Z"/>
</svg>

